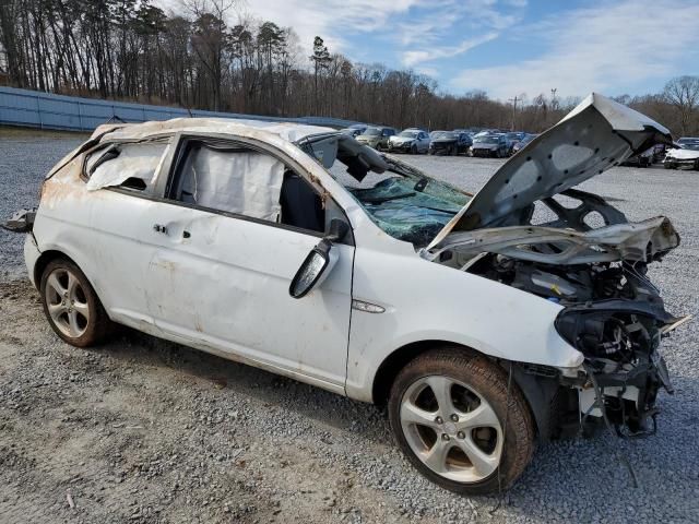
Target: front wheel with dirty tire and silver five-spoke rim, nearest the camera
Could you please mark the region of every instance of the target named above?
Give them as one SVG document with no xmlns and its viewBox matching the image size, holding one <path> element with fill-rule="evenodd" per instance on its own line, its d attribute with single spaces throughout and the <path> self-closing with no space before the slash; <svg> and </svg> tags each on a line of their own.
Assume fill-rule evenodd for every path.
<svg viewBox="0 0 699 524">
<path fill-rule="evenodd" d="M 438 397 L 451 408 L 442 409 Z M 458 348 L 435 349 L 395 378 L 389 398 L 391 429 L 401 451 L 429 480 L 462 495 L 497 493 L 512 486 L 534 453 L 532 415 L 513 382 L 509 403 L 507 398 L 508 373 L 502 368 Z M 478 420 L 470 413 L 478 413 Z M 471 457 L 478 458 L 478 467 Z"/>
</svg>

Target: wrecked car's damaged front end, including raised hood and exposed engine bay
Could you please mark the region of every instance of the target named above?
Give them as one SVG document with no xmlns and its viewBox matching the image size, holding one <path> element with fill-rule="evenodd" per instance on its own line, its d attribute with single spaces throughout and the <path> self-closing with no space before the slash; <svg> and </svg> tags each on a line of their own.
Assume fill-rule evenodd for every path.
<svg viewBox="0 0 699 524">
<path fill-rule="evenodd" d="M 567 401 L 558 403 L 566 413 L 554 415 L 553 434 L 595 418 L 619 436 L 648 434 L 659 390 L 673 392 L 660 342 L 689 317 L 665 310 L 648 266 L 679 235 L 666 217 L 632 223 L 604 199 L 571 189 L 671 140 L 656 122 L 591 95 L 506 163 L 420 251 L 562 307 L 556 330 L 584 361 L 556 373 Z"/>
</svg>

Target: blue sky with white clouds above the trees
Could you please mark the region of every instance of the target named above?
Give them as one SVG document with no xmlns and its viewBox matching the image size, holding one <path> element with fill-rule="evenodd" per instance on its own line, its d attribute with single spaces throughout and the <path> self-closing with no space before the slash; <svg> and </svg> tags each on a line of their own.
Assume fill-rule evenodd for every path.
<svg viewBox="0 0 699 524">
<path fill-rule="evenodd" d="M 352 60 L 411 68 L 445 92 L 506 99 L 662 91 L 699 74 L 699 0 L 238 0 Z"/>
</svg>

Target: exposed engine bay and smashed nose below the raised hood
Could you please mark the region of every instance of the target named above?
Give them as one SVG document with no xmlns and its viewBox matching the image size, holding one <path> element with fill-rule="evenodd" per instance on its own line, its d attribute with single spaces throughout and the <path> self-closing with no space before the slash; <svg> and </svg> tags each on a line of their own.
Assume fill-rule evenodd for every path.
<svg viewBox="0 0 699 524">
<path fill-rule="evenodd" d="M 660 340 L 686 319 L 665 310 L 647 276 L 648 264 L 678 246 L 679 236 L 667 218 L 639 227 L 600 196 L 579 190 L 562 194 L 578 205 L 545 199 L 549 222 L 532 225 L 532 205 L 519 214 L 529 226 L 498 228 L 494 238 L 494 229 L 452 234 L 423 254 L 562 306 L 556 329 L 585 357 L 585 373 L 559 378 L 561 389 L 577 390 L 577 402 L 567 403 L 568 419 L 582 426 L 593 417 L 619 436 L 653 432 L 659 389 L 673 392 Z M 592 213 L 597 228 L 588 221 Z M 620 230 L 626 233 L 618 236 Z M 570 252 L 573 235 L 581 240 Z"/>
</svg>

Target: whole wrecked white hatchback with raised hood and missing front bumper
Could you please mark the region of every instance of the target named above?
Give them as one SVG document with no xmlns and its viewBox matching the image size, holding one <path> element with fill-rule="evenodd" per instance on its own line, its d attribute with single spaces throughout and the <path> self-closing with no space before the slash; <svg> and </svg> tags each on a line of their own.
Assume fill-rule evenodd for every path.
<svg viewBox="0 0 699 524">
<path fill-rule="evenodd" d="M 119 323 L 387 405 L 417 469 L 488 493 L 566 429 L 653 430 L 686 319 L 645 270 L 679 237 L 571 188 L 670 140 L 591 95 L 471 195 L 330 129 L 104 126 L 8 227 L 66 342 Z"/>
</svg>

